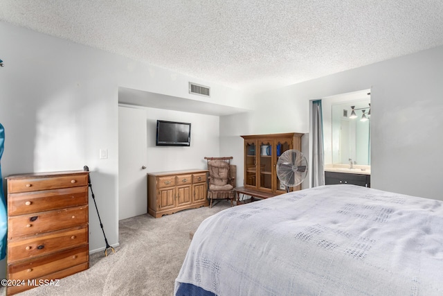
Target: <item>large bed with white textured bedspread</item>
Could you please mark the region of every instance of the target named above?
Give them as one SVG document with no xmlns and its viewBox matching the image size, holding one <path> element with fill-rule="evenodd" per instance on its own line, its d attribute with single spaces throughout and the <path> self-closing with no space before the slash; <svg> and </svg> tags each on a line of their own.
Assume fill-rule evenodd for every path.
<svg viewBox="0 0 443 296">
<path fill-rule="evenodd" d="M 220 211 L 174 295 L 443 295 L 443 202 L 331 185 Z"/>
</svg>

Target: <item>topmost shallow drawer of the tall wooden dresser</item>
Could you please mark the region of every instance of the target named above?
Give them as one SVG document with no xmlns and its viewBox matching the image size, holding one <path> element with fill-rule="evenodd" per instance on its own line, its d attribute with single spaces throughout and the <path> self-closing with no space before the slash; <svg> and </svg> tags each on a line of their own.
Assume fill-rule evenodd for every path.
<svg viewBox="0 0 443 296">
<path fill-rule="evenodd" d="M 87 186 L 88 174 L 8 179 L 8 193 Z"/>
</svg>

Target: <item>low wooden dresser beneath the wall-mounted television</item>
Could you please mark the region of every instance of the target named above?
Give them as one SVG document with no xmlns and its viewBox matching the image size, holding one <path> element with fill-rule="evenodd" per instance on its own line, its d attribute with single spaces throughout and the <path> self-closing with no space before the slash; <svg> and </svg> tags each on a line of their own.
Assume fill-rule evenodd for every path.
<svg viewBox="0 0 443 296">
<path fill-rule="evenodd" d="M 147 212 L 159 218 L 183 209 L 207 207 L 208 170 L 147 174 Z"/>
</svg>

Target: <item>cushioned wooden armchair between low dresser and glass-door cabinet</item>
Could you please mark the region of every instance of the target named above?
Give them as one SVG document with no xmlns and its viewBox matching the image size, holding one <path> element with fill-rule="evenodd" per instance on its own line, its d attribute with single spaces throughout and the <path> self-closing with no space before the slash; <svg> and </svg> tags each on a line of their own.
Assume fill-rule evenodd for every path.
<svg viewBox="0 0 443 296">
<path fill-rule="evenodd" d="M 235 198 L 235 175 L 232 174 L 230 159 L 233 157 L 205 157 L 208 162 L 208 198 L 210 207 L 213 207 L 213 200 L 227 199 L 233 205 Z M 235 171 L 235 170 L 234 170 Z"/>
</svg>

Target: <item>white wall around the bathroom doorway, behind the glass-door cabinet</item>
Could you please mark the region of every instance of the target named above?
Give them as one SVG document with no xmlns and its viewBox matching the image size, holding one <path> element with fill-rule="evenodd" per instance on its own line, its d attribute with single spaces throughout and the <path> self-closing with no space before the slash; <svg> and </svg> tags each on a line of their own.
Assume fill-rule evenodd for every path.
<svg viewBox="0 0 443 296">
<path fill-rule="evenodd" d="M 440 46 L 260 94 L 221 119 L 221 153 L 241 157 L 240 134 L 307 132 L 309 100 L 371 89 L 371 186 L 443 200 L 442 76 Z"/>
</svg>

